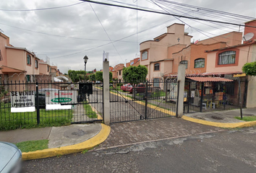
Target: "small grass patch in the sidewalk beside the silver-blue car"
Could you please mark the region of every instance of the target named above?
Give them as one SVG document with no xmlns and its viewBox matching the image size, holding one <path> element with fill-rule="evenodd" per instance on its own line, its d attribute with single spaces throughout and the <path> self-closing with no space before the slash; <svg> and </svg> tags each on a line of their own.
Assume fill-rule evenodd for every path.
<svg viewBox="0 0 256 173">
<path fill-rule="evenodd" d="M 48 148 L 48 139 L 38 141 L 25 141 L 15 144 L 22 152 L 38 151 Z"/>
</svg>

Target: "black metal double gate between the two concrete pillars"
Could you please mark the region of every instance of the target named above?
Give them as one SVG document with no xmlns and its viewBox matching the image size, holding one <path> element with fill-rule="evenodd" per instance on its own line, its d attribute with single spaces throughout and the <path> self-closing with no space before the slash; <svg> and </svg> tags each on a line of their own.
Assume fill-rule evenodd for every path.
<svg viewBox="0 0 256 173">
<path fill-rule="evenodd" d="M 171 95 L 166 88 L 171 82 L 113 84 L 110 89 L 111 123 L 175 116 L 176 104 L 166 102 Z"/>
</svg>

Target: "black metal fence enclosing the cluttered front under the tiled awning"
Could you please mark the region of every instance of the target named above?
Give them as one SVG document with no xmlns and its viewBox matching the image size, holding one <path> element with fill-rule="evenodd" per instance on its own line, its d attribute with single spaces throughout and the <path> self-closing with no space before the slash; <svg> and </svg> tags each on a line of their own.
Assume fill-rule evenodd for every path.
<svg viewBox="0 0 256 173">
<path fill-rule="evenodd" d="M 213 112 L 245 107 L 247 82 L 239 81 L 186 81 L 184 89 L 184 113 Z M 241 102 L 241 105 L 240 105 Z"/>
</svg>

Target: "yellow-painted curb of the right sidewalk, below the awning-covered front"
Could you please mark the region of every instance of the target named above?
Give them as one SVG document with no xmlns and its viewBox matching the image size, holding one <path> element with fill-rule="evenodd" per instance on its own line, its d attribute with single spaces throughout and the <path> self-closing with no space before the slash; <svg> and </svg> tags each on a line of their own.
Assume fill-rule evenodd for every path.
<svg viewBox="0 0 256 173">
<path fill-rule="evenodd" d="M 253 125 L 256 125 L 256 121 L 250 121 L 250 122 L 241 122 L 241 123 L 216 123 L 216 122 L 210 122 L 206 120 L 199 120 L 193 117 L 187 117 L 185 115 L 182 116 L 183 120 L 188 120 L 194 123 L 199 123 L 202 125 L 211 125 L 218 128 L 244 128 L 244 127 L 250 127 Z"/>
</svg>

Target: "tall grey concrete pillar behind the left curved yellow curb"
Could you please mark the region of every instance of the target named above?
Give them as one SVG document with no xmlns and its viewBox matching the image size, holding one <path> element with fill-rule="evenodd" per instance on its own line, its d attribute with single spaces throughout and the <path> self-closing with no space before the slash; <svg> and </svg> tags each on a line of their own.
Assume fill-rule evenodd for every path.
<svg viewBox="0 0 256 173">
<path fill-rule="evenodd" d="M 109 62 L 103 61 L 103 120 L 110 125 L 110 103 L 109 103 Z"/>
</svg>

